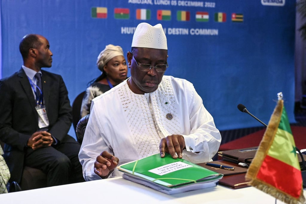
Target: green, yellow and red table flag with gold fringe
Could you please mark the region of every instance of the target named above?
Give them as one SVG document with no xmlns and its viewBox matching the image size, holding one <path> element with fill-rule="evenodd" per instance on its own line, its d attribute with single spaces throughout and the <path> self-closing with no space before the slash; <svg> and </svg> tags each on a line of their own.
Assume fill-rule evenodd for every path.
<svg viewBox="0 0 306 204">
<path fill-rule="evenodd" d="M 282 93 L 278 93 L 277 105 L 245 179 L 282 202 L 305 202 L 300 164 Z"/>
</svg>

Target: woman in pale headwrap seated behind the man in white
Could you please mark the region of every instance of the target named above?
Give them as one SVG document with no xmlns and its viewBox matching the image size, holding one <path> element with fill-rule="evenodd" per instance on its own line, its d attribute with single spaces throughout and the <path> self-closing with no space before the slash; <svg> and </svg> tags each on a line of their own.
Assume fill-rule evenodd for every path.
<svg viewBox="0 0 306 204">
<path fill-rule="evenodd" d="M 98 56 L 97 67 L 102 71 L 102 74 L 86 89 L 81 106 L 81 117 L 89 114 L 93 98 L 110 90 L 127 78 L 128 67 L 120 46 L 106 45 Z"/>
</svg>

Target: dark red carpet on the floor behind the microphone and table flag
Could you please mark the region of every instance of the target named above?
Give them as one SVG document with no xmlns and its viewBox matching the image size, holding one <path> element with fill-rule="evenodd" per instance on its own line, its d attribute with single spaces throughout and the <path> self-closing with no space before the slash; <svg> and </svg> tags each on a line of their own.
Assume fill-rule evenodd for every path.
<svg viewBox="0 0 306 204">
<path fill-rule="evenodd" d="M 306 149 L 306 127 L 291 126 L 291 130 L 297 148 Z M 263 137 L 264 132 L 265 129 L 259 130 L 255 133 L 248 134 L 244 137 L 227 142 L 223 145 L 220 145 L 219 151 L 258 146 Z"/>
</svg>

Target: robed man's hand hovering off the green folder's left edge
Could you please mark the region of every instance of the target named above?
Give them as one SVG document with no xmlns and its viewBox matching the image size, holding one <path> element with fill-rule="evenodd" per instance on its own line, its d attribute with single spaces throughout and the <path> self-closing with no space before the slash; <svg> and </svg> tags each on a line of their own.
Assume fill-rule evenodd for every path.
<svg viewBox="0 0 306 204">
<path fill-rule="evenodd" d="M 118 163 L 118 157 L 115 157 L 107 151 L 103 151 L 95 161 L 94 172 L 103 179 L 107 178 L 117 167 Z"/>
</svg>

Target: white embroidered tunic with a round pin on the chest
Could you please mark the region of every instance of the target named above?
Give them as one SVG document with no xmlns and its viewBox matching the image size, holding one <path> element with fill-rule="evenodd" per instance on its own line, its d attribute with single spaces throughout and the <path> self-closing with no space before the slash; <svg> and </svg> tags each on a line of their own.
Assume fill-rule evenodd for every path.
<svg viewBox="0 0 306 204">
<path fill-rule="evenodd" d="M 183 158 L 193 163 L 211 160 L 221 142 L 212 116 L 190 82 L 163 76 L 159 88 L 144 95 L 122 82 L 92 100 L 79 153 L 85 180 L 100 179 L 93 167 L 104 150 L 118 157 L 120 165 L 159 153 L 160 140 L 172 134 L 183 135 Z M 112 173 L 119 175 L 117 169 Z"/>
</svg>

